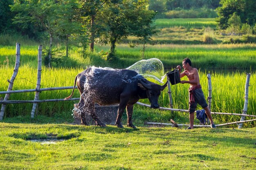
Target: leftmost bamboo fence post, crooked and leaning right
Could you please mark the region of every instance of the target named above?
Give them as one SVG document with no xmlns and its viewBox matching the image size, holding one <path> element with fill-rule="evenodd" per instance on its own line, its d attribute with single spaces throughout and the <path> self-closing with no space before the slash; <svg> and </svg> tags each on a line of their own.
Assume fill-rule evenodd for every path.
<svg viewBox="0 0 256 170">
<path fill-rule="evenodd" d="M 19 66 L 20 66 L 20 44 L 16 43 L 16 62 L 15 62 L 14 70 L 13 70 L 13 75 L 11 76 L 11 80 L 9 80 L 9 79 L 7 80 L 9 82 L 7 91 L 12 90 L 13 82 L 18 74 Z M 9 97 L 10 97 L 10 94 L 6 94 L 4 97 L 4 101 L 8 100 Z M 5 107 L 6 107 L 6 104 L 2 104 L 2 107 L 0 110 L 0 120 L 2 120 L 4 117 Z"/>
</svg>

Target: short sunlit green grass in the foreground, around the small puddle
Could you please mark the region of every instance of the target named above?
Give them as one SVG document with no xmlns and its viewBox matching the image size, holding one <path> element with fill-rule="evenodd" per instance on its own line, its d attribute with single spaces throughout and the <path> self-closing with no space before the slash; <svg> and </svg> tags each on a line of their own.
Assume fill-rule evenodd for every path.
<svg viewBox="0 0 256 170">
<path fill-rule="evenodd" d="M 255 167 L 256 129 L 0 123 L 2 170 L 169 170 Z M 40 144 L 29 139 L 65 139 Z"/>
</svg>

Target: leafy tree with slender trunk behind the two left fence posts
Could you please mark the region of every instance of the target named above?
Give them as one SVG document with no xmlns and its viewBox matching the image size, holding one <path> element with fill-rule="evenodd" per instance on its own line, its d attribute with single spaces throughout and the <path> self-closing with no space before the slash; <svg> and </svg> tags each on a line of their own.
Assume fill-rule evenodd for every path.
<svg viewBox="0 0 256 170">
<path fill-rule="evenodd" d="M 70 19 L 70 11 L 74 11 L 72 4 L 74 5 L 74 0 L 17 0 L 11 6 L 11 11 L 17 13 L 14 23 L 29 22 L 47 31 L 49 50 L 45 64 L 48 67 L 51 67 L 54 36 L 63 33 L 69 35 L 75 27 L 75 22 Z"/>
</svg>

